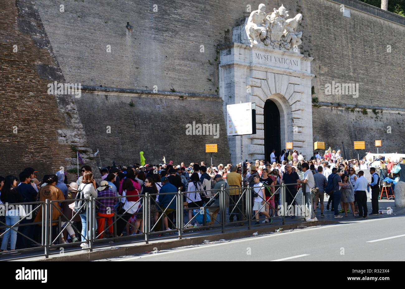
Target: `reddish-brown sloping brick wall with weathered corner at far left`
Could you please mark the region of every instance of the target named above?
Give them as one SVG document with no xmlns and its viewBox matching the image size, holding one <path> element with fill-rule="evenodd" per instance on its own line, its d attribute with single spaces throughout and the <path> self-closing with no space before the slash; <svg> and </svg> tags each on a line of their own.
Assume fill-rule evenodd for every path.
<svg viewBox="0 0 405 289">
<path fill-rule="evenodd" d="M 91 157 L 91 152 L 79 118 L 65 118 L 64 113 L 77 116 L 71 97 L 47 94 L 47 84 L 64 77 L 32 2 L 0 2 L 0 27 L 0 175 L 18 176 L 30 166 L 42 181 L 44 174 L 61 166 L 75 167 L 71 145 L 81 147 L 83 157 Z M 85 161 L 95 167 L 90 159 Z M 69 180 L 74 178 L 68 175 Z"/>
</svg>

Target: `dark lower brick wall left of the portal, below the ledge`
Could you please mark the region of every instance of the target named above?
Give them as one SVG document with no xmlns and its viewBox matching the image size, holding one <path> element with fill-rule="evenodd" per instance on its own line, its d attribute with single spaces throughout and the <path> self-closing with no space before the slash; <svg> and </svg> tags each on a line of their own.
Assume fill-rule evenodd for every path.
<svg viewBox="0 0 405 289">
<path fill-rule="evenodd" d="M 100 150 L 103 166 L 113 161 L 117 165 L 139 163 L 140 151 L 147 164 L 161 164 L 163 157 L 167 163 L 209 164 L 205 144 L 218 146 L 218 153 L 213 153 L 215 165 L 230 160 L 220 99 L 85 92 L 76 103 L 87 139 L 93 151 Z M 186 124 L 193 121 L 219 124 L 220 137 L 187 135 Z M 100 164 L 98 156 L 96 161 Z"/>
</svg>

